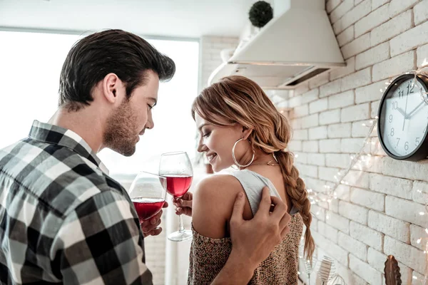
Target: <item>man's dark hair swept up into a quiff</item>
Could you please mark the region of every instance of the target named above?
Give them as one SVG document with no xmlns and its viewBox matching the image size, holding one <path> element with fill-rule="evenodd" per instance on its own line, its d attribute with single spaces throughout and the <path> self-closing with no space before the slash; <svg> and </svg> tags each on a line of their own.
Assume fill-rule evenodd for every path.
<svg viewBox="0 0 428 285">
<path fill-rule="evenodd" d="M 175 73 L 174 61 L 133 33 L 108 30 L 77 41 L 68 52 L 59 80 L 59 105 L 79 110 L 93 101 L 91 91 L 108 73 L 126 84 L 126 96 L 146 83 L 146 71 L 168 81 Z"/>
</svg>

